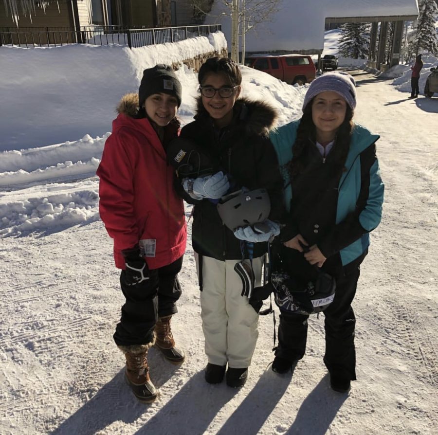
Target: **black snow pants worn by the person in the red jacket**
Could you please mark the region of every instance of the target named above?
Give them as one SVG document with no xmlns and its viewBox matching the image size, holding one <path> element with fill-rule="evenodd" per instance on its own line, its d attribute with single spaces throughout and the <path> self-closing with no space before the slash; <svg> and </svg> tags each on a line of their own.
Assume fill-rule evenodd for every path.
<svg viewBox="0 0 438 435">
<path fill-rule="evenodd" d="M 120 286 L 126 298 L 122 306 L 122 317 L 113 335 L 117 345 L 148 344 L 153 340 L 153 332 L 158 317 L 175 314 L 177 300 L 181 296 L 178 272 L 181 271 L 183 257 L 159 269 L 149 270 L 149 279 L 127 286 L 120 274 Z"/>
</svg>

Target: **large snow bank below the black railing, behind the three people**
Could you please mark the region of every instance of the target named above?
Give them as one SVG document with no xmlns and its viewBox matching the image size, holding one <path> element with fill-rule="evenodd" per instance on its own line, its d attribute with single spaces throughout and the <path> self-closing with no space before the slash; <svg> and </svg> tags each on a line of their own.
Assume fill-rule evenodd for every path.
<svg viewBox="0 0 438 435">
<path fill-rule="evenodd" d="M 6 121 L 0 119 L 6 139 L 3 137 L 0 140 L 7 140 L 8 135 L 9 137 L 19 137 L 20 149 L 0 151 L 0 187 L 11 190 L 43 183 L 48 180 L 65 182 L 93 176 L 99 165 L 105 141 L 110 135 L 110 120 L 116 116 L 112 108 L 116 105 L 119 98 L 119 95 L 111 94 L 110 87 L 106 87 L 105 83 L 103 83 L 105 80 L 109 80 L 113 90 L 120 90 L 120 95 L 122 95 L 125 91 L 136 91 L 143 69 L 157 62 L 171 64 L 178 62 L 182 58 L 192 57 L 197 53 L 212 50 L 219 51 L 225 46 L 226 41 L 223 34 L 216 32 L 208 38 L 197 37 L 178 44 L 142 47 L 132 51 L 126 51 L 123 47 L 115 46 L 64 46 L 58 47 L 57 50 L 50 49 L 48 51 L 9 49 L 12 64 L 16 64 L 15 70 L 18 70 L 19 62 L 26 64 L 29 59 L 36 61 L 38 73 L 35 76 L 35 80 L 40 79 L 40 82 L 33 89 L 34 101 L 43 101 L 45 95 L 53 92 L 54 83 L 48 77 L 50 77 L 53 71 L 61 71 L 59 69 L 59 59 L 62 59 L 62 69 L 66 68 L 67 65 L 73 65 L 77 58 L 82 59 L 80 67 L 88 76 L 82 77 L 81 91 L 78 91 L 78 87 L 70 89 L 67 86 L 66 92 L 70 101 L 66 107 L 43 104 L 41 110 L 31 111 L 32 122 L 24 122 L 23 119 L 17 116 L 18 112 L 13 116 L 13 111 L 18 110 L 18 103 L 10 103 L 10 124 L 6 125 Z M 0 55 L 1 53 L 0 49 Z M 91 56 L 94 53 L 96 53 L 98 65 Z M 110 53 L 110 55 L 106 55 L 106 53 Z M 46 62 L 43 61 L 44 59 Z M 97 83 L 93 77 L 97 67 L 103 72 L 110 71 L 111 69 L 122 70 L 129 67 L 131 69 L 130 80 L 132 83 L 135 82 L 136 88 L 127 88 L 126 75 L 123 74 L 105 77 L 105 80 L 100 80 L 102 83 Z M 308 85 L 302 87 L 298 85 L 291 86 L 269 74 L 247 67 L 242 67 L 241 71 L 241 95 L 253 100 L 262 99 L 271 104 L 278 111 L 278 125 L 285 124 L 289 120 L 301 115 L 301 104 Z M 198 77 L 197 74 L 193 74 L 185 65 L 176 73 L 183 85 L 183 104 L 178 110 L 178 117 L 181 119 L 182 125 L 185 125 L 193 120 L 193 116 L 196 113 L 196 98 L 199 95 Z M 10 100 L 12 94 L 18 92 L 19 74 L 17 71 L 16 74 L 15 81 L 9 75 L 5 76 L 5 83 L 10 86 L 10 89 L 5 92 L 6 99 L 9 98 Z M 25 83 L 27 80 L 26 76 L 22 79 Z M 60 79 L 54 79 L 55 86 L 57 86 L 56 80 L 59 81 Z M 71 81 L 70 77 L 68 81 Z M 0 88 L 6 89 L 6 84 L 0 83 Z M 104 89 L 107 92 L 104 92 Z M 78 92 L 79 95 L 76 98 L 74 97 L 75 92 Z M 84 95 L 91 96 L 93 101 L 86 102 L 83 97 Z M 115 98 L 116 96 L 117 99 Z M 61 98 L 61 95 L 59 97 Z M 114 98 L 114 101 L 109 106 L 109 99 L 112 98 Z M 93 108 L 82 113 L 82 108 L 86 104 L 92 104 Z M 54 111 L 55 109 L 57 109 L 56 116 L 53 115 L 52 119 L 46 120 L 44 110 Z M 101 125 L 101 110 L 104 109 L 108 110 L 106 116 L 110 119 L 105 124 L 106 132 L 102 136 L 96 135 L 93 137 L 93 131 L 97 128 L 96 126 Z M 77 137 L 83 136 L 82 139 L 77 140 L 76 137 L 73 141 L 68 140 L 56 145 L 38 147 L 32 143 L 27 149 L 21 149 L 31 138 L 38 137 L 37 130 L 44 130 L 44 134 L 47 135 L 45 139 L 48 144 L 53 143 L 52 141 L 58 138 L 58 134 L 67 135 L 66 130 L 61 127 L 70 126 L 74 123 L 74 113 L 80 114 L 76 118 L 80 126 L 76 127 L 75 135 Z M 19 123 L 19 128 L 17 123 Z M 57 127 L 60 128 L 57 129 Z M 12 224 L 7 223 L 6 225 Z M 33 222 L 33 225 L 35 227 L 37 223 Z"/>
</svg>

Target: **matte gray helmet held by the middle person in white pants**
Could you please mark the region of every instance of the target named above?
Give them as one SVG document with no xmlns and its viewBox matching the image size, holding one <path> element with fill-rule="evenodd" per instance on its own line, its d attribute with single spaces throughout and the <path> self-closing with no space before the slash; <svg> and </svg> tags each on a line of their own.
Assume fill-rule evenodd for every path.
<svg viewBox="0 0 438 435">
<path fill-rule="evenodd" d="M 266 189 L 237 190 L 220 199 L 218 212 L 224 225 L 234 231 L 265 221 L 271 212 L 271 201 Z"/>
</svg>

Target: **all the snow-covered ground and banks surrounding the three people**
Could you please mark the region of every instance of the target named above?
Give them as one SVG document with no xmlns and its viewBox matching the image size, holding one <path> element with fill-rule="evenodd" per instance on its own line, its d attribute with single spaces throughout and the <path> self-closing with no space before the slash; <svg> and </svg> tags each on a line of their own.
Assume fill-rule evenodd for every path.
<svg viewBox="0 0 438 435">
<path fill-rule="evenodd" d="M 174 60 L 164 47 L 154 50 L 159 61 Z M 1 62 L 8 73 L 0 77 L 8 108 L 7 120 L 0 119 L 0 434 L 437 432 L 438 98 L 407 99 L 409 73 L 395 87 L 382 76 L 352 71 L 358 80 L 356 121 L 381 135 L 386 190 L 383 221 L 372 233 L 354 301 L 358 381 L 350 393 L 329 388 L 323 316 L 310 320 L 307 354 L 292 379 L 268 366 L 268 316 L 260 318 L 247 384 L 240 390 L 206 384 L 189 243 L 173 321 L 187 359 L 178 367 L 151 350 L 160 397 L 144 405 L 125 384 L 124 358 L 112 342 L 123 296 L 112 243 L 98 216 L 93 173 L 117 99 L 136 89 L 142 69 L 157 58 L 121 47 L 50 51 L 0 47 L 0 58 L 8 60 Z M 179 54 L 188 49 L 180 46 Z M 38 62 L 38 55 L 45 60 Z M 33 62 L 38 73 L 32 87 L 27 71 Z M 64 87 L 58 86 L 61 78 L 49 78 L 60 64 Z M 242 72 L 244 96 L 273 104 L 280 124 L 300 116 L 307 86 L 245 67 Z M 177 74 L 183 83 L 180 115 L 187 123 L 194 114 L 196 74 L 186 68 Z M 190 212 L 187 206 L 187 217 Z"/>
</svg>

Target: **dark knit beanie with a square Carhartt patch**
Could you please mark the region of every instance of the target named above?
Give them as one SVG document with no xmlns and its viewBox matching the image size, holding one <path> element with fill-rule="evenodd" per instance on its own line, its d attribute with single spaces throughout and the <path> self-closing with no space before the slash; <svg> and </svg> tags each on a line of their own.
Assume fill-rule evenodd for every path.
<svg viewBox="0 0 438 435">
<path fill-rule="evenodd" d="M 178 100 L 181 106 L 183 87 L 172 67 L 164 64 L 155 65 L 143 71 L 143 78 L 138 89 L 138 104 L 142 107 L 149 95 L 154 93 L 168 93 Z"/>
</svg>

